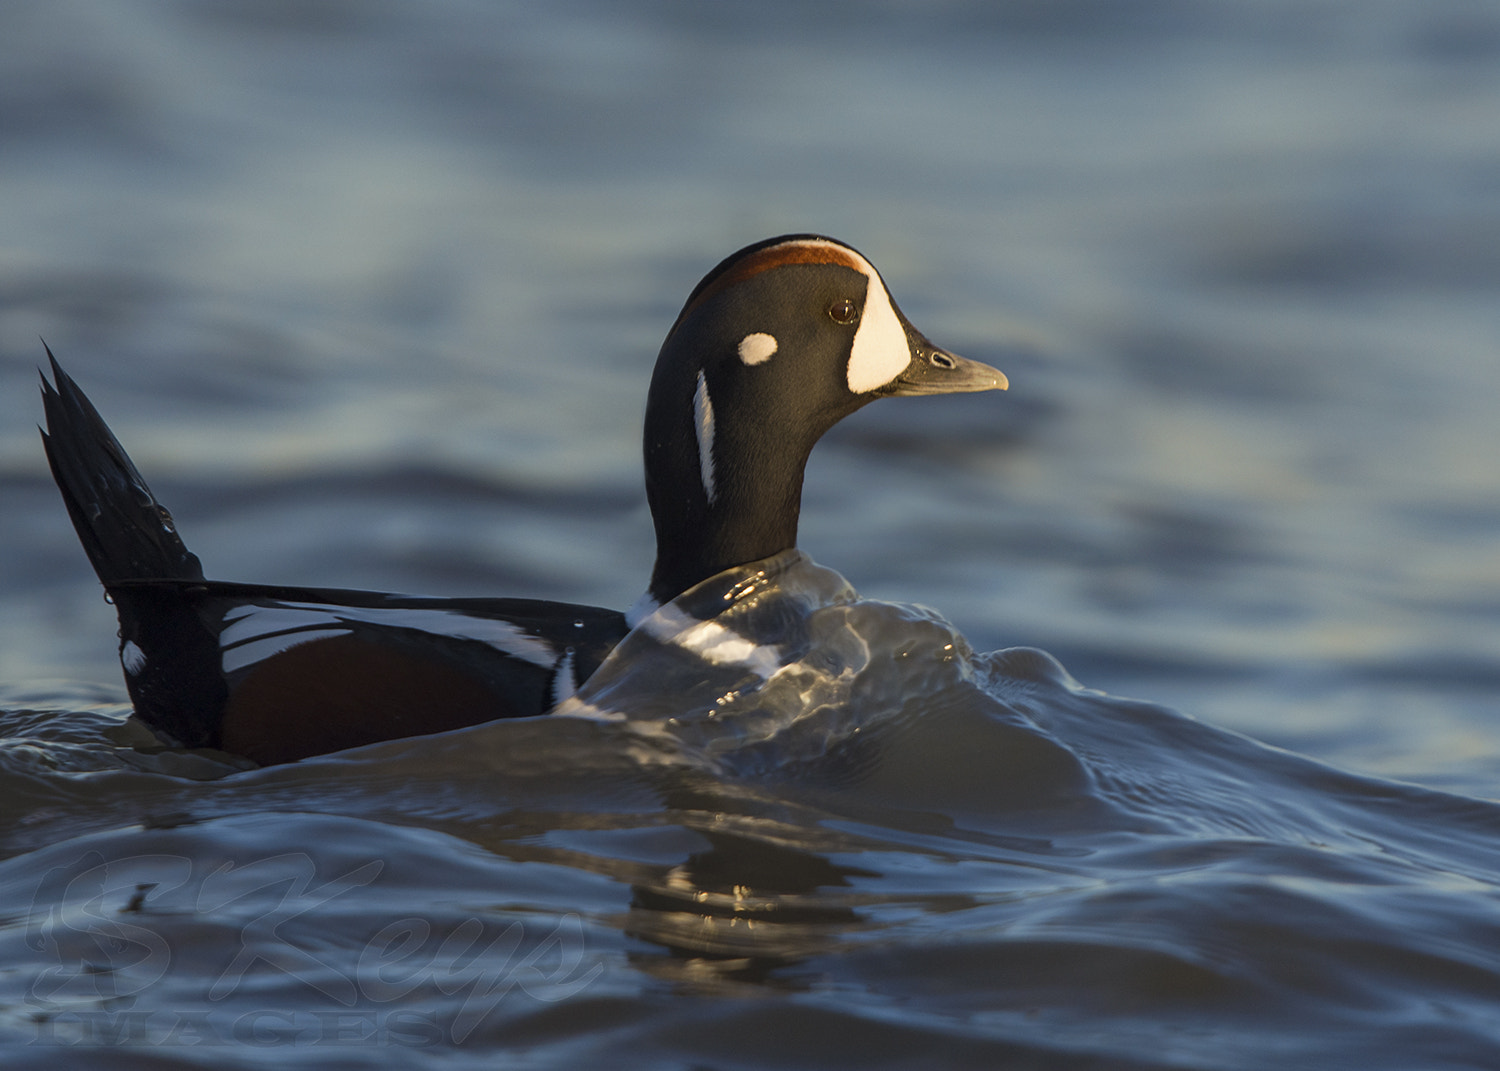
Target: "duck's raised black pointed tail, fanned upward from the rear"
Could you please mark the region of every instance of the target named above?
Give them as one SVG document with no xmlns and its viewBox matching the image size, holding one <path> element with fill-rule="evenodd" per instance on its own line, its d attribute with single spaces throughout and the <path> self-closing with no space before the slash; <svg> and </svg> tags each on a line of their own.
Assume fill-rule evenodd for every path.
<svg viewBox="0 0 1500 1071">
<path fill-rule="evenodd" d="M 44 348 L 46 344 L 42 344 Z M 126 580 L 201 580 L 202 566 L 177 536 L 118 440 L 52 351 L 42 376 L 42 444 L 68 516 L 105 588 Z M 54 386 L 56 384 L 56 386 Z"/>
</svg>

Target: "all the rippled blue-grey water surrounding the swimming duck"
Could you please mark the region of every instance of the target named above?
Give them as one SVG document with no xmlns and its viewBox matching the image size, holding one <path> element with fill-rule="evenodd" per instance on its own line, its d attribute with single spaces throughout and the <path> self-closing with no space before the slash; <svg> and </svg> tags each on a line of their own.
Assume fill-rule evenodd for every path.
<svg viewBox="0 0 1500 1071">
<path fill-rule="evenodd" d="M 6 1065 L 1500 1064 L 1497 60 L 1414 0 L 0 8 Z M 38 336 L 216 578 L 627 606 L 660 336 L 795 230 L 1011 390 L 819 447 L 850 586 L 774 586 L 770 692 L 638 651 L 624 720 L 266 771 L 126 718 Z"/>
</svg>

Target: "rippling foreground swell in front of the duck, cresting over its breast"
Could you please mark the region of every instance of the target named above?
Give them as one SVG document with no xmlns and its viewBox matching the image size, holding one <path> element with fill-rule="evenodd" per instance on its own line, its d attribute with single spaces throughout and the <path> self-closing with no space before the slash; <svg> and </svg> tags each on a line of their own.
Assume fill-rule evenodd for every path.
<svg viewBox="0 0 1500 1071">
<path fill-rule="evenodd" d="M 8 714 L 0 789 L 21 816 L 0 885 L 30 908 L 0 926 L 4 1002 L 84 986 L 58 957 L 120 918 L 171 951 L 136 980 L 147 1010 L 249 1016 L 338 984 L 388 1016 L 360 934 L 429 934 L 423 963 L 484 934 L 464 970 L 506 982 L 519 926 L 526 948 L 574 934 L 567 976 L 586 986 L 548 999 L 614 993 L 644 1017 L 640 1052 L 672 1035 L 658 987 L 798 994 L 780 1011 L 843 1030 L 870 1065 L 894 1038 L 1042 1065 L 1500 1052 L 1500 807 L 1092 692 L 1042 651 L 976 654 L 939 615 L 860 598 L 800 554 L 663 608 L 560 714 L 196 782 L 212 756 L 138 750 L 117 712 Z M 240 915 L 206 908 L 214 874 L 240 872 L 224 864 L 260 876 L 246 918 L 309 890 L 294 906 L 310 930 L 250 946 L 302 963 L 278 942 L 316 933 L 315 972 L 208 999 L 248 940 Z M 519 998 L 476 1004 L 454 978 L 404 992 L 444 1029 L 504 1034 Z M 90 993 L 68 1006 L 108 1006 Z M 754 1002 L 708 1014 L 774 1064 Z"/>
</svg>

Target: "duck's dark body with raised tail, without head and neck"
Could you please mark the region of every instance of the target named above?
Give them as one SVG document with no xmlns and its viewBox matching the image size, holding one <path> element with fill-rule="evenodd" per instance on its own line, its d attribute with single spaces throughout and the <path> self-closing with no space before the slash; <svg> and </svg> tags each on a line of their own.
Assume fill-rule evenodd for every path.
<svg viewBox="0 0 1500 1071">
<path fill-rule="evenodd" d="M 120 663 L 135 714 L 171 742 L 228 742 L 256 760 L 286 762 L 494 717 L 543 714 L 560 674 L 580 680 L 578 674 L 591 672 L 626 634 L 621 615 L 591 606 L 206 580 L 110 428 L 51 350 L 46 357 L 52 372 L 51 381 L 42 376 L 46 459 L 120 618 Z M 298 604 L 320 626 L 336 627 L 309 628 L 300 645 L 291 639 L 279 646 L 297 628 L 280 622 L 267 632 L 246 630 L 250 618 L 236 612 L 270 609 L 274 616 Z M 372 609 L 388 615 L 386 622 L 362 621 Z M 422 627 L 423 615 L 438 626 L 435 632 Z M 454 615 L 478 632 L 454 632 Z M 236 627 L 243 634 L 225 645 Z M 490 634 L 500 638 L 494 645 L 484 639 Z M 256 644 L 268 650 L 225 664 L 226 650 L 240 657 Z M 566 657 L 549 663 L 537 658 L 538 651 Z M 381 670 L 370 676 L 376 666 Z"/>
</svg>

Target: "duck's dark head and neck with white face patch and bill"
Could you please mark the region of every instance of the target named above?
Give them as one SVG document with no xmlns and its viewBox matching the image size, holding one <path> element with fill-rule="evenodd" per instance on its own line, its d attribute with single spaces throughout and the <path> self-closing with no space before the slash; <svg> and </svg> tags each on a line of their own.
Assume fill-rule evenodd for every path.
<svg viewBox="0 0 1500 1071">
<path fill-rule="evenodd" d="M 855 410 L 1005 388 L 998 369 L 928 342 L 842 242 L 789 234 L 741 249 L 688 296 L 651 376 L 657 561 L 644 602 L 796 546 L 807 458 Z"/>
</svg>

